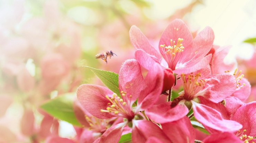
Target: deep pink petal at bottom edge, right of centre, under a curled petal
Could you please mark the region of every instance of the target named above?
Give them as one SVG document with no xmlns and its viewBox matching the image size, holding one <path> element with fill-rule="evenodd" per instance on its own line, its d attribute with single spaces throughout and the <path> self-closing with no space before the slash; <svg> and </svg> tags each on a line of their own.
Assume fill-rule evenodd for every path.
<svg viewBox="0 0 256 143">
<path fill-rule="evenodd" d="M 174 143 L 194 143 L 195 129 L 188 117 L 162 124 L 164 133 Z"/>
</svg>

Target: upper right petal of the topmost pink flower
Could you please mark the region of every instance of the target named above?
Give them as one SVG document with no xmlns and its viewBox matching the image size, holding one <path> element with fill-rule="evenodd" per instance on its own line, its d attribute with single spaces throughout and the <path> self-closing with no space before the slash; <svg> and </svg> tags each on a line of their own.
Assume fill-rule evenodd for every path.
<svg viewBox="0 0 256 143">
<path fill-rule="evenodd" d="M 207 53 L 211 50 L 214 40 L 214 33 L 210 27 L 204 28 L 200 33 L 198 33 L 193 40 L 192 47 L 185 47 L 184 52 L 182 52 L 181 63 L 186 63 L 188 61 L 191 64 L 198 63 Z M 184 40 L 185 41 L 185 40 Z"/>
</svg>

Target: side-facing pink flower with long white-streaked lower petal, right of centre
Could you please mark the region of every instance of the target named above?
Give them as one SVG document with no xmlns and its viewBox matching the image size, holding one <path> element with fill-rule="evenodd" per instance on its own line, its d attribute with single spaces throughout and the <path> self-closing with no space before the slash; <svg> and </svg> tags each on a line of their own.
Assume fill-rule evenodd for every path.
<svg viewBox="0 0 256 143">
<path fill-rule="evenodd" d="M 181 75 L 184 91 L 173 100 L 171 107 L 175 107 L 177 103 L 185 100 L 184 104 L 189 109 L 192 106 L 194 117 L 204 126 L 219 131 L 235 132 L 242 128 L 241 124 L 223 119 L 221 113 L 217 110 L 198 103 L 199 100 L 196 97 L 199 96 L 218 103 L 230 96 L 236 88 L 234 76 L 228 74 L 210 75 L 210 73 L 210 76 L 205 76 L 208 73 L 208 69 L 209 67 L 201 69 L 195 74 Z"/>
</svg>

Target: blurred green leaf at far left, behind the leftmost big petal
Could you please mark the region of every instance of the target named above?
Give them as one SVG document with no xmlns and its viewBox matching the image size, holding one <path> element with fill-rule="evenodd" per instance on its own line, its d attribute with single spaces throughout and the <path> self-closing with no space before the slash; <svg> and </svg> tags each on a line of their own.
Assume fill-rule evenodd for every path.
<svg viewBox="0 0 256 143">
<path fill-rule="evenodd" d="M 75 93 L 60 95 L 52 100 L 47 101 L 41 108 L 60 120 L 66 121 L 76 126 L 82 126 L 76 119 L 73 110 L 73 101 Z"/>
</svg>

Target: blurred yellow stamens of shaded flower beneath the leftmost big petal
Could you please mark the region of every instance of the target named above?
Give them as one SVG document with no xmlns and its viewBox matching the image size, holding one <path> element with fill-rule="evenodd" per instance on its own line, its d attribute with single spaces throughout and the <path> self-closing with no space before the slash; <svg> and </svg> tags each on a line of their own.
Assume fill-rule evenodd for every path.
<svg viewBox="0 0 256 143">
<path fill-rule="evenodd" d="M 109 120 L 107 119 L 99 119 L 94 116 L 85 115 L 86 121 L 89 123 L 89 130 L 104 133 L 109 128 Z"/>
</svg>

